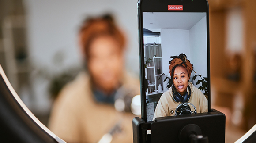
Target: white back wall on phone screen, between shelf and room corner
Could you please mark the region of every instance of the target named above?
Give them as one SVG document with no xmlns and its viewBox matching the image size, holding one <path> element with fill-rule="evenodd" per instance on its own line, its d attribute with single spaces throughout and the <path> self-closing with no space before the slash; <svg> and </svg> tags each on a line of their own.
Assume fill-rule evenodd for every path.
<svg viewBox="0 0 256 143">
<path fill-rule="evenodd" d="M 184 53 L 190 58 L 189 50 L 189 30 L 182 29 L 161 29 L 161 43 L 162 43 L 162 68 L 163 73 L 169 75 L 169 61 L 172 60 L 170 56 Z M 164 82 L 164 91 L 167 81 Z"/>
</svg>

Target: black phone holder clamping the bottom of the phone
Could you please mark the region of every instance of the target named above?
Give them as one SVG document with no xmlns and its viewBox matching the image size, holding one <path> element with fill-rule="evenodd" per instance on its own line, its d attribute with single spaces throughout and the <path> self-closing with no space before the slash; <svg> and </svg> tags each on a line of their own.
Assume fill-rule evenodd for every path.
<svg viewBox="0 0 256 143">
<path fill-rule="evenodd" d="M 133 143 L 225 143 L 225 114 L 208 113 L 132 120 Z"/>
</svg>

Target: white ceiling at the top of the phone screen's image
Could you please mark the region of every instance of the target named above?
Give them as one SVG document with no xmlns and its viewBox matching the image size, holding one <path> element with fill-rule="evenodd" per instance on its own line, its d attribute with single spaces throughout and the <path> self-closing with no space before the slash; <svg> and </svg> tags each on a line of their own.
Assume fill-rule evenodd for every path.
<svg viewBox="0 0 256 143">
<path fill-rule="evenodd" d="M 206 13 L 143 12 L 143 28 L 153 32 L 160 29 L 191 29 Z"/>
</svg>

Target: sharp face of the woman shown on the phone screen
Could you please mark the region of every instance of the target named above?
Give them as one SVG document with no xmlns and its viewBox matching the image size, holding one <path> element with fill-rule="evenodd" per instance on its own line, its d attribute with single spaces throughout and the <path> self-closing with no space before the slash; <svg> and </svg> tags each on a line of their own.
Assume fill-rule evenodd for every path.
<svg viewBox="0 0 256 143">
<path fill-rule="evenodd" d="M 177 66 L 173 74 L 173 83 L 178 93 L 183 94 L 188 87 L 188 71 L 183 66 Z"/>
</svg>

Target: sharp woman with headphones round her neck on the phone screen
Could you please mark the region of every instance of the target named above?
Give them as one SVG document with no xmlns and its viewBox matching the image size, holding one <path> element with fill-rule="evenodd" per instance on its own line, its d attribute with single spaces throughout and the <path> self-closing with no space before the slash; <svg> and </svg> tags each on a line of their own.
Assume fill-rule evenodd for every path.
<svg viewBox="0 0 256 143">
<path fill-rule="evenodd" d="M 169 61 L 171 88 L 164 92 L 158 101 L 154 118 L 175 115 L 177 106 L 181 103 L 191 103 L 197 113 L 207 112 L 207 99 L 203 93 L 189 82 L 193 66 L 185 54 L 172 56 Z"/>
</svg>

